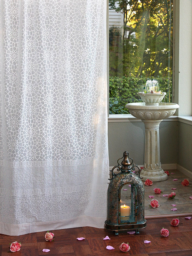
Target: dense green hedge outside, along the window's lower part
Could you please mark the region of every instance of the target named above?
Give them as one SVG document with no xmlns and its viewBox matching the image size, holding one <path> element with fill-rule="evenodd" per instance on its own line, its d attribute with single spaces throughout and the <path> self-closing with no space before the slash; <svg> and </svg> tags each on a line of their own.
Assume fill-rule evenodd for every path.
<svg viewBox="0 0 192 256">
<path fill-rule="evenodd" d="M 164 77 L 149 77 L 157 79 L 159 90 L 166 92 L 165 102 L 172 102 L 172 81 Z M 130 102 L 142 102 L 138 92 L 145 89 L 147 78 L 137 77 L 109 77 L 109 114 L 128 114 L 128 109 L 124 108 Z"/>
</svg>

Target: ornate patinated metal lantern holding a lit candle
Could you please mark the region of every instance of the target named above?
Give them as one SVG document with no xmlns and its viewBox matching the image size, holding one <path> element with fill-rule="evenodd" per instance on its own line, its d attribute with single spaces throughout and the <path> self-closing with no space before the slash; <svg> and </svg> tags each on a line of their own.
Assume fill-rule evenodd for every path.
<svg viewBox="0 0 192 256">
<path fill-rule="evenodd" d="M 123 158 L 121 164 L 118 163 Z M 117 160 L 118 165 L 110 171 L 112 178 L 108 186 L 108 212 L 105 228 L 114 230 L 135 230 L 146 227 L 144 218 L 144 186 L 140 178 L 140 167 L 133 163 L 127 151 Z M 131 161 L 130 161 L 131 160 Z M 132 166 L 131 166 L 132 165 Z M 138 172 L 133 173 L 135 167 Z M 117 168 L 119 173 L 114 173 Z"/>
</svg>

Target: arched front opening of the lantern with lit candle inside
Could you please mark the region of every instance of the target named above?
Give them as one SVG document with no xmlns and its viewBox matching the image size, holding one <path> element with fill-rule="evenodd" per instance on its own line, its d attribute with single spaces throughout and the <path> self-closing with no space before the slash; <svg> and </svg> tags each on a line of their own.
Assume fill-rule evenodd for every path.
<svg viewBox="0 0 192 256">
<path fill-rule="evenodd" d="M 130 216 L 132 212 L 132 195 L 131 195 L 131 187 L 130 184 L 125 184 L 121 188 L 121 196 L 120 196 L 120 214 L 121 214 L 121 222 L 129 222 Z"/>
</svg>

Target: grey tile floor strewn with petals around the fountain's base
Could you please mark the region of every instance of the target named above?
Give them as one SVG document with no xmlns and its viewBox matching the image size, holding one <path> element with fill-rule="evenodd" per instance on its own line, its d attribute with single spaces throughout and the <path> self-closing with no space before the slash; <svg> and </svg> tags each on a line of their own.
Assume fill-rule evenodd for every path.
<svg viewBox="0 0 192 256">
<path fill-rule="evenodd" d="M 192 196 L 192 179 L 184 175 L 183 173 L 179 172 L 178 170 L 168 170 L 170 172 L 170 175 L 168 176 L 167 180 L 159 181 L 159 182 L 153 182 L 152 186 L 145 186 L 145 217 L 157 217 L 160 215 L 182 215 L 185 213 L 192 213 L 192 199 L 189 198 L 189 196 Z M 174 172 L 174 174 L 171 174 L 171 172 Z M 177 181 L 173 181 L 173 179 L 178 179 Z M 189 180 L 189 186 L 182 186 L 181 181 L 187 178 Z M 126 188 L 125 188 L 126 186 Z M 128 184 L 125 185 L 124 188 L 127 189 L 126 191 L 122 190 L 122 197 L 123 202 L 125 200 L 125 204 L 130 205 L 131 198 L 126 195 L 131 194 L 131 188 L 128 187 Z M 155 194 L 153 191 L 154 188 L 160 188 L 163 193 L 162 194 Z M 172 190 L 171 188 L 177 188 L 176 190 Z M 174 198 L 172 200 L 168 199 L 168 197 L 164 197 L 164 194 L 171 194 L 171 192 L 174 191 L 176 193 L 175 200 Z M 154 196 L 154 198 L 149 198 L 149 195 Z M 158 208 L 152 208 L 149 207 L 149 203 L 152 199 L 157 199 L 159 201 L 160 207 Z M 172 204 L 176 204 L 176 206 L 172 206 Z M 177 208 L 176 211 L 172 211 L 172 208 Z"/>
</svg>

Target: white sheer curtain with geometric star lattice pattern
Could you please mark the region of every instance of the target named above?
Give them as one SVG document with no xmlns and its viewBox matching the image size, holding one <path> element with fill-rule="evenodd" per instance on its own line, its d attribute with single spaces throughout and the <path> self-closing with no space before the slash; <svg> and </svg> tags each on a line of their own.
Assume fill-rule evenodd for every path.
<svg viewBox="0 0 192 256">
<path fill-rule="evenodd" d="M 106 0 L 0 8 L 0 233 L 102 228 Z"/>
</svg>

